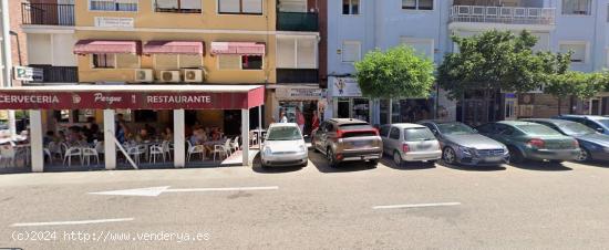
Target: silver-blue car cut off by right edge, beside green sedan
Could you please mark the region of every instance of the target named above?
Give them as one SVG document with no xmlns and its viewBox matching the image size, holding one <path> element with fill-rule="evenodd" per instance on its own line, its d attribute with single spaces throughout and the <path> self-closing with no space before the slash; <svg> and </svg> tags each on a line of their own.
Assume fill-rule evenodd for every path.
<svg viewBox="0 0 609 250">
<path fill-rule="evenodd" d="M 551 127 L 577 139 L 580 153 L 577 162 L 609 160 L 609 135 L 603 135 L 584 124 L 566 119 L 525 119 L 526 122 L 538 123 Z"/>
</svg>

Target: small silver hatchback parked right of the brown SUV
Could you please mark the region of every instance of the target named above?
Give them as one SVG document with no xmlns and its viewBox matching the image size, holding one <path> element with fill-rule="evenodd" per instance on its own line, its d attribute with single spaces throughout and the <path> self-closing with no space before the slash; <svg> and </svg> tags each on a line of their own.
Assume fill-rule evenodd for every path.
<svg viewBox="0 0 609 250">
<path fill-rule="evenodd" d="M 435 164 L 442 157 L 440 142 L 430 128 L 410 123 L 383 125 L 380 131 L 383 152 L 393 157 L 398 166 L 404 162 Z"/>
</svg>

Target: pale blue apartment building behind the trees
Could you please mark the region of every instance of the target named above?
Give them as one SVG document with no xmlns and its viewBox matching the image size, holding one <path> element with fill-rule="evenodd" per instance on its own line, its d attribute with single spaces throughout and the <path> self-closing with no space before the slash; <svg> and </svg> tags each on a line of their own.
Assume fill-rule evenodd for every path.
<svg viewBox="0 0 609 250">
<path fill-rule="evenodd" d="M 493 93 L 487 100 L 473 92 L 458 102 L 442 90 L 431 98 L 368 100 L 352 77 L 353 62 L 375 48 L 402 43 L 440 64 L 458 49 L 451 35 L 468 37 L 486 30 L 528 30 L 539 40 L 535 50 L 574 51 L 572 70 L 607 67 L 605 0 L 344 0 L 329 2 L 329 107 L 326 117 L 357 117 L 375 124 L 422 118 L 481 124 L 494 119 L 548 117 L 557 114 L 556 98 L 543 90 L 516 95 Z M 586 27 L 586 29 L 582 29 Z M 607 114 L 609 100 L 569 102 L 577 113 Z M 568 111 L 568 107 L 564 108 Z"/>
</svg>

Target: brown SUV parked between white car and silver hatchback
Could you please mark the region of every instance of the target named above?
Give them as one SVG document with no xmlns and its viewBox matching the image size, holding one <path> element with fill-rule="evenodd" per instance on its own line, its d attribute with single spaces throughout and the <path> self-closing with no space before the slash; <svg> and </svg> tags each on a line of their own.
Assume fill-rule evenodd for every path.
<svg viewBox="0 0 609 250">
<path fill-rule="evenodd" d="M 332 118 L 313 131 L 313 149 L 326 155 L 330 167 L 343 162 L 367 160 L 379 164 L 383 142 L 379 131 L 367 122 L 352 118 Z"/>
</svg>

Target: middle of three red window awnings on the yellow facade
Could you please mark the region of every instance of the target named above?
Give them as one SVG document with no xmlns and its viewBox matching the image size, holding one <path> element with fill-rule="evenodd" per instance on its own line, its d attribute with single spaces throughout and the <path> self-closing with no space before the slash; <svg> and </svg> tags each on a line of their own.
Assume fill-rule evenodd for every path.
<svg viewBox="0 0 609 250">
<path fill-rule="evenodd" d="M 205 45 L 197 41 L 149 41 L 144 54 L 205 54 Z"/>
</svg>

